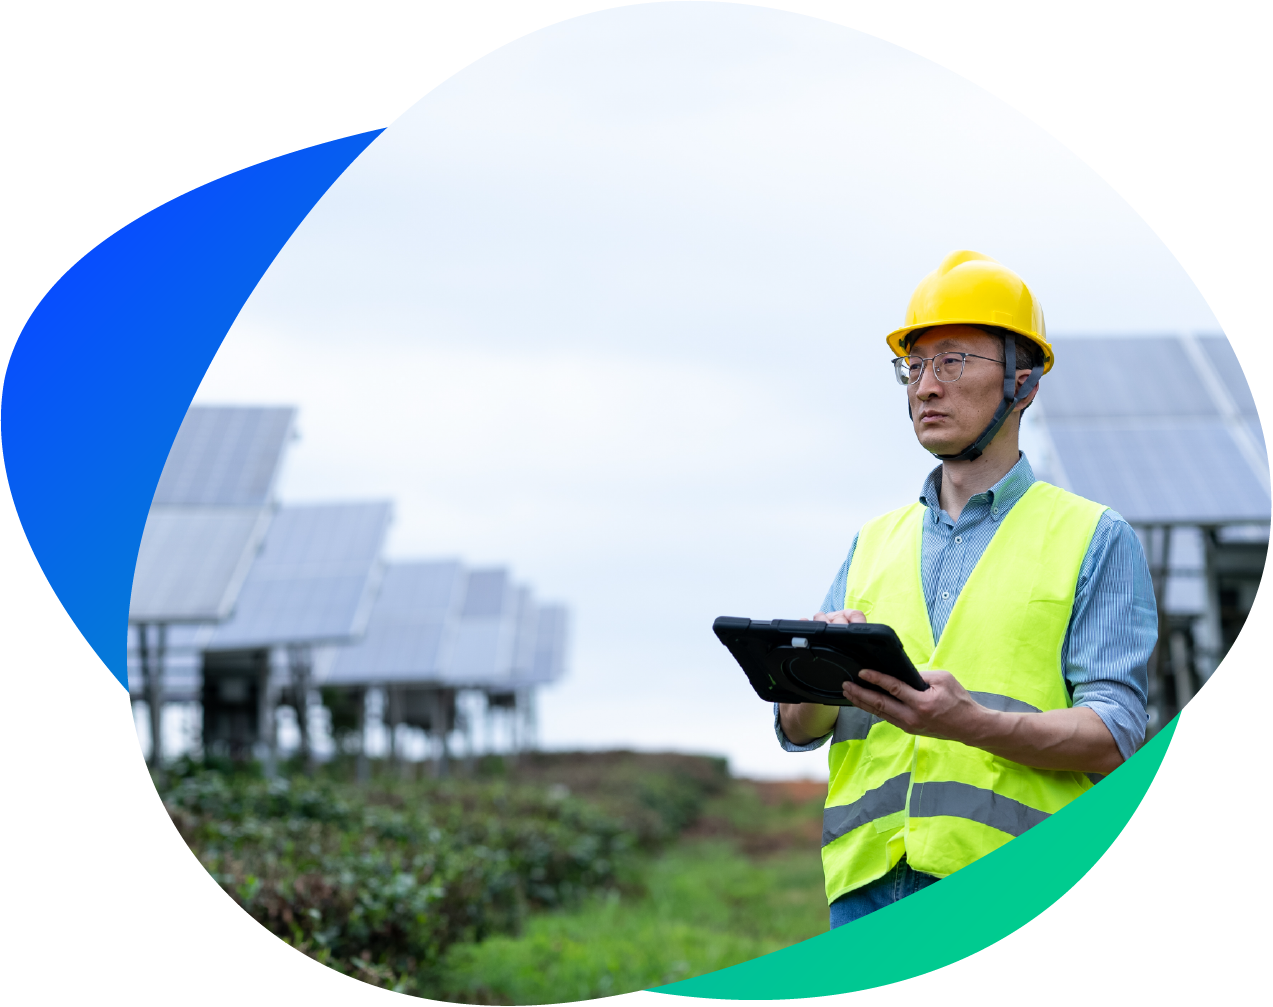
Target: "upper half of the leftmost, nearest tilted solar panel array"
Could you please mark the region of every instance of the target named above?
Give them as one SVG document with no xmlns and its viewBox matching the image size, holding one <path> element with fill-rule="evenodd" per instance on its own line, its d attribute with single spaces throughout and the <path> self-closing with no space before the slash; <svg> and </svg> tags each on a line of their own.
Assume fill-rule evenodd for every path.
<svg viewBox="0 0 1273 1007">
<path fill-rule="evenodd" d="M 264 507 L 294 416 L 290 406 L 191 406 L 153 504 Z"/>
</svg>

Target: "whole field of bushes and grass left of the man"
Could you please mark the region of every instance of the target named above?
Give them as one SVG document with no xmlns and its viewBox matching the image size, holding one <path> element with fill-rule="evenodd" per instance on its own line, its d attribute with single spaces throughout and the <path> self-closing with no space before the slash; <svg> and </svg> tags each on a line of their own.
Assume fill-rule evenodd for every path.
<svg viewBox="0 0 1273 1007">
<path fill-rule="evenodd" d="M 160 794 L 223 890 L 376 985 L 457 1003 L 647 989 L 826 929 L 824 788 L 675 754 L 523 755 L 434 780 L 185 763 Z"/>
</svg>

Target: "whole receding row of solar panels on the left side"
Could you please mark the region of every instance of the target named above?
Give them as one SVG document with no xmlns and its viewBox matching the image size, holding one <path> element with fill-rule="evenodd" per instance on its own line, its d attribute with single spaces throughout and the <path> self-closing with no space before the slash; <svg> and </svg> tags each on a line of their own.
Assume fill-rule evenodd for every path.
<svg viewBox="0 0 1273 1007">
<path fill-rule="evenodd" d="M 165 624 L 165 690 L 193 699 L 200 654 L 318 648 L 334 685 L 440 684 L 512 691 L 564 670 L 566 612 L 503 568 L 381 559 L 387 502 L 276 508 L 295 411 L 187 412 L 143 533 L 132 584 L 130 687 L 141 624 Z M 151 626 L 151 647 L 158 637 Z M 365 633 L 365 635 L 364 635 Z"/>
</svg>

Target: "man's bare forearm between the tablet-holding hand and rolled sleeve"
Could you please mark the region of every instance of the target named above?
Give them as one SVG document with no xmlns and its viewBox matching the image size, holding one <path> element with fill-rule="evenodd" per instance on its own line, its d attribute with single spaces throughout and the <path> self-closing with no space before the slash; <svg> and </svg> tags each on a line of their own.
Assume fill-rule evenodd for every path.
<svg viewBox="0 0 1273 1007">
<path fill-rule="evenodd" d="M 1123 765 L 1114 736 L 1087 707 L 1044 713 L 985 710 L 965 743 L 1034 769 L 1105 774 Z"/>
</svg>

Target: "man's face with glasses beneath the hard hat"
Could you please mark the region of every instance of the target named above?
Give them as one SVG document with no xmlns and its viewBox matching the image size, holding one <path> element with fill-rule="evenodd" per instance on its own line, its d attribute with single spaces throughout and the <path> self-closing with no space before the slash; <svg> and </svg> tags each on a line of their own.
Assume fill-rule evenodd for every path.
<svg viewBox="0 0 1273 1007">
<path fill-rule="evenodd" d="M 938 381 L 933 362 L 925 360 L 923 376 L 906 386 L 906 395 L 919 443 L 936 454 L 956 454 L 980 435 L 1003 400 L 1003 340 L 967 325 L 943 325 L 924 332 L 910 348 L 914 356 L 942 353 L 975 356 L 967 358 L 956 382 Z M 989 359 L 978 359 L 983 356 Z"/>
</svg>

